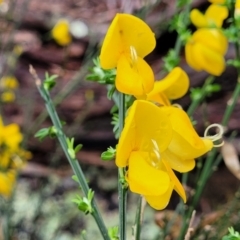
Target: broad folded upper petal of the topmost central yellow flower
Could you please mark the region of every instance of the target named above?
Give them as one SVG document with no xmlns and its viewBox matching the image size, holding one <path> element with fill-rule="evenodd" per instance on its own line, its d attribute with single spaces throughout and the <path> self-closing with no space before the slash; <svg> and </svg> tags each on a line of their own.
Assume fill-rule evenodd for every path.
<svg viewBox="0 0 240 240">
<path fill-rule="evenodd" d="M 147 44 L 146 44 L 147 43 Z M 156 46 L 154 33 L 141 19 L 130 14 L 116 14 L 103 41 L 100 62 L 104 69 L 117 66 L 120 55 L 134 47 L 141 58 Z"/>
</svg>

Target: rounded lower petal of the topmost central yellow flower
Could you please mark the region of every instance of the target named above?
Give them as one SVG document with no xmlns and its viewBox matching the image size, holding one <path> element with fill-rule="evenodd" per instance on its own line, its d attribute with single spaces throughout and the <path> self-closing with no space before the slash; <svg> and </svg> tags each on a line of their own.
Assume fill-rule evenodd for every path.
<svg viewBox="0 0 240 240">
<path fill-rule="evenodd" d="M 137 57 L 133 62 L 132 59 L 123 54 L 117 64 L 115 84 L 119 92 L 130 95 L 145 95 L 153 88 L 153 71 L 142 58 Z"/>
</svg>

